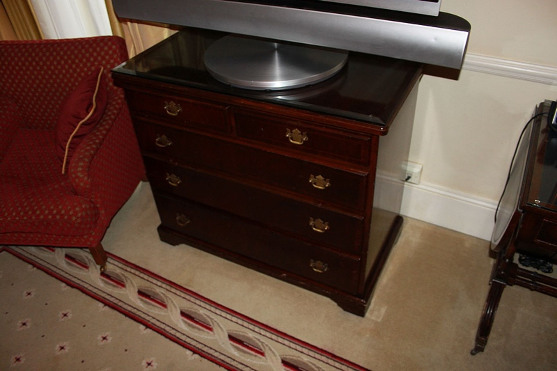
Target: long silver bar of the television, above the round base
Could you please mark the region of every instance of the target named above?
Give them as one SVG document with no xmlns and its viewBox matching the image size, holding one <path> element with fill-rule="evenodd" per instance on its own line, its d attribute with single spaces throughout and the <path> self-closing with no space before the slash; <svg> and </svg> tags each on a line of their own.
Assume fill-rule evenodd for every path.
<svg viewBox="0 0 557 371">
<path fill-rule="evenodd" d="M 121 18 L 305 43 L 452 69 L 462 67 L 470 23 L 453 14 L 440 12 L 437 17 L 429 17 L 389 12 L 387 17 L 385 14 L 375 17 L 374 12 L 367 11 L 371 8 L 366 7 L 350 6 L 350 12 L 343 13 L 320 9 L 320 3 L 325 5 L 321 1 L 315 2 L 316 7 L 312 8 L 272 3 L 255 0 L 113 0 L 114 10 Z"/>
</svg>

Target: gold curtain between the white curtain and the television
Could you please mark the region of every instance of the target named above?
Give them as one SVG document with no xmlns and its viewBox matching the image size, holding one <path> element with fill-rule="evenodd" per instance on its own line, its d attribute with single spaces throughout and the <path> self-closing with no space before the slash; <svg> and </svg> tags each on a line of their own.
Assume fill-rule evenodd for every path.
<svg viewBox="0 0 557 371">
<path fill-rule="evenodd" d="M 120 20 L 114 13 L 112 0 L 105 0 L 105 2 L 112 32 L 114 35 L 124 37 L 130 58 L 176 32 L 165 25 L 135 22 L 129 19 Z"/>
</svg>

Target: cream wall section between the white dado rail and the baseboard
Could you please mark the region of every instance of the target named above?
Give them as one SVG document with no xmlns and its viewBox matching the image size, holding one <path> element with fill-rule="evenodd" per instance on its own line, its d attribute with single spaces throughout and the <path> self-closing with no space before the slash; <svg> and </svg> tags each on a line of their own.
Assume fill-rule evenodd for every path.
<svg viewBox="0 0 557 371">
<path fill-rule="evenodd" d="M 536 104 L 557 99 L 545 84 L 462 71 L 458 81 L 424 76 L 410 160 L 422 182 L 499 199 L 516 141 Z"/>
</svg>

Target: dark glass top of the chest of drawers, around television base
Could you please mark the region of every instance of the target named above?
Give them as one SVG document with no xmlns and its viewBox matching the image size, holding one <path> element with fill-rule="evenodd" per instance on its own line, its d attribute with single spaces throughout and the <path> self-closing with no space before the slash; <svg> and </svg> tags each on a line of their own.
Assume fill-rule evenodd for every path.
<svg viewBox="0 0 557 371">
<path fill-rule="evenodd" d="M 318 84 L 281 91 L 256 91 L 229 86 L 205 69 L 203 56 L 227 33 L 184 28 L 116 67 L 128 74 L 227 95 L 294 106 L 319 113 L 389 125 L 422 73 L 422 65 L 387 57 L 350 52 L 335 76 Z"/>
</svg>

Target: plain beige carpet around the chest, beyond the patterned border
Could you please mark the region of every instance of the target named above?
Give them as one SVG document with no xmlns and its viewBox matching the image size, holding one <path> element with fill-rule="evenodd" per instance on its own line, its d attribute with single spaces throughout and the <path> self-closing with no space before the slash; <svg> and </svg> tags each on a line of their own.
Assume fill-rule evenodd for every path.
<svg viewBox="0 0 557 371">
<path fill-rule="evenodd" d="M 326 297 L 192 247 L 160 242 L 158 224 L 149 184 L 141 183 L 103 245 L 223 306 L 374 371 L 557 369 L 557 301 L 521 287 L 507 287 L 485 352 L 470 355 L 488 291 L 487 241 L 405 218 L 372 305 L 360 318 Z"/>
</svg>

